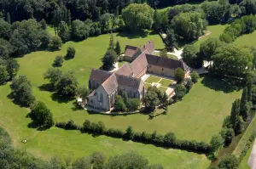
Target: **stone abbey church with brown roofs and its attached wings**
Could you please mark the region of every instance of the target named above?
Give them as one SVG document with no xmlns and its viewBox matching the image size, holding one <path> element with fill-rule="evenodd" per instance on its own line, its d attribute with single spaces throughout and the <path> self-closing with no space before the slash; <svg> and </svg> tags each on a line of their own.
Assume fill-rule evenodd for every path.
<svg viewBox="0 0 256 169">
<path fill-rule="evenodd" d="M 178 67 L 185 70 L 183 61 L 155 56 L 152 41 L 141 48 L 126 45 L 124 60 L 127 61 L 125 65 L 115 72 L 91 70 L 89 87 L 93 92 L 87 103 L 90 107 L 108 111 L 116 96 L 124 92 L 129 98 L 142 100 L 146 89 L 141 77 L 146 73 L 173 77 Z"/>
</svg>

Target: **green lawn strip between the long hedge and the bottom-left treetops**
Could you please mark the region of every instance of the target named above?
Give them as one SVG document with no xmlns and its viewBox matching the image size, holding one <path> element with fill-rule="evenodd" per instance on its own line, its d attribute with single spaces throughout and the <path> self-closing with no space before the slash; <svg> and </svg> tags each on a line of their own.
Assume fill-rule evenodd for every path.
<svg viewBox="0 0 256 169">
<path fill-rule="evenodd" d="M 92 137 L 77 131 L 68 131 L 52 127 L 46 131 L 38 131 L 27 127 L 31 122 L 26 118 L 29 112 L 13 104 L 5 96 L 9 94 L 9 85 L 1 86 L 0 93 L 0 126 L 6 128 L 14 139 L 15 147 L 34 155 L 49 159 L 51 155 L 69 155 L 72 158 L 87 156 L 95 151 L 105 155 L 117 155 L 127 151 L 137 151 L 154 163 L 163 164 L 166 168 L 206 168 L 209 164 L 205 155 L 197 155 L 178 149 L 162 149 L 153 145 L 138 144 L 122 139 L 106 136 Z M 63 111 L 64 113 L 64 111 Z M 21 140 L 27 139 L 26 144 Z M 157 158 L 160 157 L 160 158 Z"/>
</svg>

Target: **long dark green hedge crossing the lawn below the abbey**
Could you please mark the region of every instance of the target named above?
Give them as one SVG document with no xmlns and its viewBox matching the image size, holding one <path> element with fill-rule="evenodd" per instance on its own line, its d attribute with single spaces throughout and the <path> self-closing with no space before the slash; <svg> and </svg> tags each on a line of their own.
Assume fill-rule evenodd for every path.
<svg viewBox="0 0 256 169">
<path fill-rule="evenodd" d="M 95 135 L 106 135 L 112 138 L 123 138 L 132 140 L 138 143 L 154 144 L 166 148 L 183 149 L 193 151 L 195 153 L 210 153 L 210 145 L 204 142 L 197 142 L 195 140 L 177 139 L 173 132 L 167 132 L 165 135 L 157 132 L 136 132 L 132 127 L 127 127 L 126 132 L 115 128 L 106 128 L 102 121 L 91 122 L 85 120 L 83 127 L 75 125 L 73 121 L 57 122 L 55 127 L 64 129 L 80 130 L 80 132 L 92 133 Z"/>
</svg>

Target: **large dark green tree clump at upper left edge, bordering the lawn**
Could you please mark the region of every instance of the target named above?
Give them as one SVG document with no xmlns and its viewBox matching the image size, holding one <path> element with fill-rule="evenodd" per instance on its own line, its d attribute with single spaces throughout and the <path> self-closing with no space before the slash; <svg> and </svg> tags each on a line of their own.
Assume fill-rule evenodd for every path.
<svg viewBox="0 0 256 169">
<path fill-rule="evenodd" d="M 0 57 L 28 54 L 38 49 L 59 49 L 59 37 L 50 37 L 37 20 L 22 20 L 10 25 L 0 19 Z"/>
</svg>

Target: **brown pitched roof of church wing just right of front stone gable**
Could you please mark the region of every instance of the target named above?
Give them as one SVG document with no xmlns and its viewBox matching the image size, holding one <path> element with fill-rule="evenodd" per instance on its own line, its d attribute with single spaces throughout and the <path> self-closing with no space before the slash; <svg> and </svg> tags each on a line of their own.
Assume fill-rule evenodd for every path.
<svg viewBox="0 0 256 169">
<path fill-rule="evenodd" d="M 118 84 L 123 87 L 130 87 L 138 90 L 141 84 L 141 78 L 131 76 L 116 75 Z"/>
</svg>

